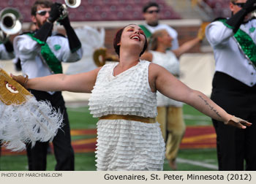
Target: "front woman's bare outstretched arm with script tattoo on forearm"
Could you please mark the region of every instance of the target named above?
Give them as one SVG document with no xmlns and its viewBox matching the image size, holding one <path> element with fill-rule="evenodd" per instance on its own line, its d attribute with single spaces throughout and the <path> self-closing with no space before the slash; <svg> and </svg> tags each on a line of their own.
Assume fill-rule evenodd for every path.
<svg viewBox="0 0 256 184">
<path fill-rule="evenodd" d="M 180 80 L 177 80 L 176 77 L 170 74 L 170 72 L 167 72 L 167 70 L 161 66 L 150 64 L 149 81 L 153 82 L 150 82 L 151 89 L 155 88 L 170 99 L 175 99 L 189 104 L 211 118 L 222 121 L 225 124 L 237 126 L 241 129 L 245 129 L 246 126 L 251 125 L 251 123 L 248 123 L 245 120 L 241 120 L 240 118 L 236 118 L 233 117 L 233 115 L 228 114 L 205 94 L 200 91 L 192 90 Z M 241 122 L 239 123 L 239 121 Z"/>
</svg>

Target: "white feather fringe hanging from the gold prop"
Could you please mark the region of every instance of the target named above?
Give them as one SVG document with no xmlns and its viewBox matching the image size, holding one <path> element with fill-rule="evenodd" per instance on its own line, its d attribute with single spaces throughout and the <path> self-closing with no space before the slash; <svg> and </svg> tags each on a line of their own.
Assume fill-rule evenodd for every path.
<svg viewBox="0 0 256 184">
<path fill-rule="evenodd" d="M 23 104 L 6 105 L 0 101 L 0 140 L 7 149 L 22 151 L 26 144 L 52 141 L 63 126 L 63 115 L 49 102 L 26 96 Z"/>
</svg>

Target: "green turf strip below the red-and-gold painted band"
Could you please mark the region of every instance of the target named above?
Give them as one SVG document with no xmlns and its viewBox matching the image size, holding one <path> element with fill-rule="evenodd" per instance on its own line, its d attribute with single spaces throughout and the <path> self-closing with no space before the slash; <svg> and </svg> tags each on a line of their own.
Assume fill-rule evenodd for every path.
<svg viewBox="0 0 256 184">
<path fill-rule="evenodd" d="M 215 149 L 189 149 L 180 150 L 178 158 L 189 159 L 192 161 L 203 161 L 207 164 L 217 165 L 216 150 Z M 48 155 L 47 170 L 53 171 L 56 164 L 55 158 L 52 154 Z M 27 171 L 26 156 L 1 156 L 1 170 L 2 171 Z M 195 166 L 191 164 L 177 163 L 179 171 L 211 171 L 203 166 Z M 76 171 L 95 171 L 95 154 L 94 153 L 75 153 L 75 170 Z M 171 171 L 170 166 L 165 160 L 165 171 Z"/>
</svg>

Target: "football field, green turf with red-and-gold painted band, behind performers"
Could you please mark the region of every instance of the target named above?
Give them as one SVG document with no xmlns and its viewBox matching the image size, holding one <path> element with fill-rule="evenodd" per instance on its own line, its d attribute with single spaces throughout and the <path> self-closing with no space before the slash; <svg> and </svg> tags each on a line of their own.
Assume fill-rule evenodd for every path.
<svg viewBox="0 0 256 184">
<path fill-rule="evenodd" d="M 96 123 L 88 107 L 74 107 L 67 104 L 75 150 L 75 170 L 95 171 Z M 187 130 L 178 153 L 178 170 L 211 171 L 217 170 L 216 134 L 211 118 L 206 117 L 188 105 L 184 105 L 184 119 Z M 51 150 L 52 145 L 50 145 Z M 56 164 L 53 153 L 48 154 L 47 170 L 54 170 Z M 28 170 L 26 152 L 10 152 L 2 147 L 0 158 L 1 171 Z M 171 170 L 165 160 L 164 170 Z"/>
</svg>

